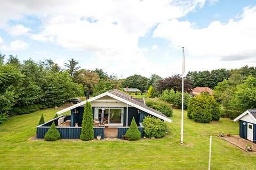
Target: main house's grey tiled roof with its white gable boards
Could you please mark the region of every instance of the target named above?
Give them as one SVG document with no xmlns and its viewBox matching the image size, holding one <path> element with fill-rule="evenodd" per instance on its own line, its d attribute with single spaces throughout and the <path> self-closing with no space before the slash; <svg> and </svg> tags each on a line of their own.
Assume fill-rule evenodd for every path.
<svg viewBox="0 0 256 170">
<path fill-rule="evenodd" d="M 125 94 L 124 92 L 119 91 L 117 89 L 109 90 L 109 91 L 107 91 L 103 94 L 100 94 L 100 95 L 95 96 L 91 99 L 88 99 L 87 101 L 91 102 L 91 101 L 97 100 L 97 99 L 99 99 L 101 97 L 104 97 L 104 96 L 112 97 L 112 98 L 117 99 L 119 101 L 122 101 L 123 103 L 126 103 L 130 106 L 138 108 L 141 111 L 144 111 L 144 112 L 146 112 L 150 115 L 161 118 L 164 121 L 172 122 L 172 120 L 169 117 L 165 116 L 163 113 L 161 113 L 159 111 L 156 111 L 155 109 L 153 109 L 151 107 L 146 106 L 144 102 L 141 103 L 141 101 L 137 101 L 138 99 L 134 99 L 134 98 L 132 98 L 132 96 L 130 96 L 128 94 Z M 84 104 L 86 104 L 86 100 L 82 101 L 81 103 L 78 103 L 76 105 L 73 105 L 73 106 L 70 106 L 68 108 L 62 109 L 61 111 L 57 112 L 57 114 L 65 113 L 65 112 L 70 111 L 71 109 L 74 109 L 76 107 L 83 106 Z"/>
</svg>

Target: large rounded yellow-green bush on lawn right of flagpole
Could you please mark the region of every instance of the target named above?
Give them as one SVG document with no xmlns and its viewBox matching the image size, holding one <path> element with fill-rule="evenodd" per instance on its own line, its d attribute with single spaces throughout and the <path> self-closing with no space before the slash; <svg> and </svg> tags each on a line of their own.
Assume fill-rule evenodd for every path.
<svg viewBox="0 0 256 170">
<path fill-rule="evenodd" d="M 217 101 L 209 94 L 202 93 L 189 100 L 187 116 L 199 123 L 209 123 L 219 120 L 220 107 Z"/>
</svg>

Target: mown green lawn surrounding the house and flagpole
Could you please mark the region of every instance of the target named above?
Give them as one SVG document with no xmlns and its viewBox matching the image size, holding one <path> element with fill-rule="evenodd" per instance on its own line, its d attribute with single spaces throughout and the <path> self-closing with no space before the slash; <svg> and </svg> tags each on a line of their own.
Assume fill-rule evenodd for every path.
<svg viewBox="0 0 256 170">
<path fill-rule="evenodd" d="M 212 169 L 256 169 L 256 154 L 247 154 L 215 137 L 238 134 L 227 118 L 199 124 L 185 118 L 185 145 L 179 145 L 180 110 L 170 133 L 140 141 L 31 141 L 39 118 L 50 120 L 56 109 L 15 116 L 0 125 L 0 169 L 207 169 L 209 136 L 213 135 Z M 186 117 L 186 116 L 185 116 Z"/>
</svg>

